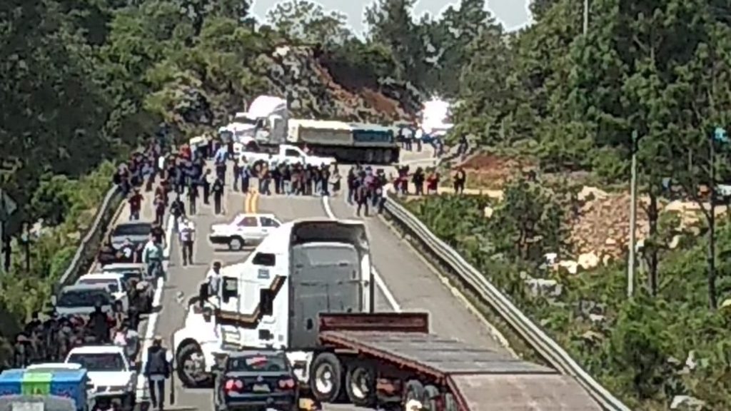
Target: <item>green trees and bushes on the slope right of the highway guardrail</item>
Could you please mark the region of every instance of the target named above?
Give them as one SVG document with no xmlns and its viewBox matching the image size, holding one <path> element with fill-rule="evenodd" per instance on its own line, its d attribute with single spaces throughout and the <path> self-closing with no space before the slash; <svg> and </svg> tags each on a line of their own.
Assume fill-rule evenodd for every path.
<svg viewBox="0 0 731 411">
<path fill-rule="evenodd" d="M 681 399 L 692 410 L 731 409 L 727 198 L 709 211 L 714 184 L 729 181 L 728 141 L 714 138 L 731 128 L 727 4 L 592 1 L 586 34 L 574 1 L 531 9 L 531 27 L 472 43 L 480 52 L 453 94 L 452 138 L 469 135 L 491 158 L 520 163 L 473 182 L 501 189 L 502 200 L 442 195 L 406 206 L 633 410 Z M 628 223 L 615 227 L 607 208 L 585 238 L 572 230 L 596 212 L 579 198 L 584 185 L 629 192 L 633 150 L 642 250 L 628 298 Z M 673 200 L 692 211 L 666 209 Z M 594 268 L 546 263 L 547 253 L 577 260 L 586 237 L 607 232 L 621 253 L 600 254 Z"/>
</svg>

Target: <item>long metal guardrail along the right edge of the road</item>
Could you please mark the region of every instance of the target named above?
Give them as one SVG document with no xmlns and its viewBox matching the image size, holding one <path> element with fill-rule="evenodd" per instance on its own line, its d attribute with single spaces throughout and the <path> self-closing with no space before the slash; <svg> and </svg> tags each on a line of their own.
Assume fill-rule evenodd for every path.
<svg viewBox="0 0 731 411">
<path fill-rule="evenodd" d="M 480 298 L 495 309 L 526 343 L 534 350 L 537 350 L 553 368 L 562 374 L 574 377 L 605 410 L 631 411 L 629 407 L 622 404 L 619 399 L 616 399 L 612 393 L 584 371 L 566 350 L 553 341 L 526 314 L 520 312 L 520 309 L 491 284 L 480 271 L 467 263 L 449 244 L 444 243 L 431 233 L 428 227 L 406 210 L 404 206 L 392 200 L 392 196 L 393 192 L 387 192 L 388 200 L 385 203 L 385 210 L 395 222 L 405 227 L 430 252 L 433 252 L 436 257 L 449 265 L 461 277 L 463 282 L 472 287 L 480 295 Z"/>
</svg>

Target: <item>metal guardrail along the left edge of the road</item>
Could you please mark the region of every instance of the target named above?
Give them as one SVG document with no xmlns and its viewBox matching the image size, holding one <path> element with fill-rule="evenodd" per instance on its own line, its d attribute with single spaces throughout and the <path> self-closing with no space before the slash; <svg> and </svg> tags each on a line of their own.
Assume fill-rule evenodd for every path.
<svg viewBox="0 0 731 411">
<path fill-rule="evenodd" d="M 114 216 L 117 212 L 119 203 L 122 200 L 121 191 L 117 186 L 112 186 L 104 197 L 104 201 L 96 210 L 94 216 L 94 222 L 91 227 L 88 228 L 86 235 L 81 240 L 81 244 L 76 249 L 69 267 L 64 271 L 64 275 L 58 280 L 58 290 L 61 287 L 65 287 L 69 284 L 76 282 L 79 276 L 84 274 L 94 262 L 96 252 L 99 250 L 99 246 L 104 240 L 104 235 L 107 233 L 107 227 L 113 222 Z"/>
</svg>

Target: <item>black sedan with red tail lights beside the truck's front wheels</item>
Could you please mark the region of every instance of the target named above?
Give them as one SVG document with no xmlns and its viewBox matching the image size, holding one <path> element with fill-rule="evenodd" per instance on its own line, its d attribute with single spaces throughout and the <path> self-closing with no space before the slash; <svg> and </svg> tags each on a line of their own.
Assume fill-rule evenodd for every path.
<svg viewBox="0 0 731 411">
<path fill-rule="evenodd" d="M 216 411 L 299 410 L 297 377 L 284 352 L 236 352 L 217 368 L 213 395 Z"/>
</svg>

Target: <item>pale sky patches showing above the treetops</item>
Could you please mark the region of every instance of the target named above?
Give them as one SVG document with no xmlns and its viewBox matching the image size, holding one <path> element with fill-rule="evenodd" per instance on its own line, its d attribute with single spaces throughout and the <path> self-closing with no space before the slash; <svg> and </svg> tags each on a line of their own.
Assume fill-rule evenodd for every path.
<svg viewBox="0 0 731 411">
<path fill-rule="evenodd" d="M 528 4 L 530 0 L 486 0 L 488 10 L 503 23 L 508 30 L 519 29 L 530 21 Z M 254 0 L 253 12 L 257 18 L 263 20 L 268 10 L 279 1 L 275 0 Z M 325 10 L 338 10 L 348 16 L 348 23 L 351 29 L 357 34 L 363 33 L 363 14 L 366 6 L 373 0 L 318 0 Z M 458 0 L 418 0 L 414 8 L 416 17 L 419 18 L 424 12 L 431 15 L 439 15 L 442 10 L 450 4 L 459 4 Z"/>
</svg>

